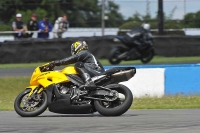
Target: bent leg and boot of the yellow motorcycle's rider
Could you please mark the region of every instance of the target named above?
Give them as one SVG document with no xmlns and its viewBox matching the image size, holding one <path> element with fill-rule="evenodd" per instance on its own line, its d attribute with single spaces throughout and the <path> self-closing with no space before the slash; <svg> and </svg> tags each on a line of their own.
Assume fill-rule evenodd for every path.
<svg viewBox="0 0 200 133">
<path fill-rule="evenodd" d="M 82 62 L 77 62 L 75 64 L 76 71 L 80 74 L 81 78 L 85 81 L 85 88 L 88 90 L 96 89 L 96 85 L 91 79 L 91 76 L 88 74 L 88 71 L 84 68 Z"/>
</svg>

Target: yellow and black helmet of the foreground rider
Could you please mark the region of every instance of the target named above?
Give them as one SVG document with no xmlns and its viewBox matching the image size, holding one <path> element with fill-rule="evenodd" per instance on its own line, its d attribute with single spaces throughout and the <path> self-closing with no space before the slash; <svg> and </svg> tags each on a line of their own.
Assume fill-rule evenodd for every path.
<svg viewBox="0 0 200 133">
<path fill-rule="evenodd" d="M 84 49 L 88 49 L 87 43 L 85 41 L 76 41 L 76 42 L 72 43 L 71 53 L 72 53 L 72 55 L 74 55 Z"/>
</svg>

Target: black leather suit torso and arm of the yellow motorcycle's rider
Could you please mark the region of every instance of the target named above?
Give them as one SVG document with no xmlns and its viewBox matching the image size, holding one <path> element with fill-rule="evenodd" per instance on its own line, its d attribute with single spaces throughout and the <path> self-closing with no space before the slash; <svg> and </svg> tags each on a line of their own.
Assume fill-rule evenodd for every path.
<svg viewBox="0 0 200 133">
<path fill-rule="evenodd" d="M 104 72 L 102 64 L 88 50 L 82 50 L 76 55 L 55 61 L 55 65 L 68 65 L 75 63 L 75 69 L 84 80 L 87 80 L 85 73 L 91 77 Z"/>
</svg>

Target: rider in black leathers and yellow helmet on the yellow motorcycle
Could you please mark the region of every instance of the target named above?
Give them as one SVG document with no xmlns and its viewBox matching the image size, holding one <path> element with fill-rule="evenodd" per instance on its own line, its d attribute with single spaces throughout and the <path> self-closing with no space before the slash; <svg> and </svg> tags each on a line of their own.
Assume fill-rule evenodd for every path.
<svg viewBox="0 0 200 133">
<path fill-rule="evenodd" d="M 75 63 L 75 69 L 85 81 L 85 88 L 95 90 L 96 85 L 91 80 L 91 76 L 99 75 L 104 72 L 102 64 L 88 50 L 88 45 L 85 41 L 76 41 L 71 45 L 72 56 L 52 61 L 50 67 L 69 65 Z"/>
</svg>

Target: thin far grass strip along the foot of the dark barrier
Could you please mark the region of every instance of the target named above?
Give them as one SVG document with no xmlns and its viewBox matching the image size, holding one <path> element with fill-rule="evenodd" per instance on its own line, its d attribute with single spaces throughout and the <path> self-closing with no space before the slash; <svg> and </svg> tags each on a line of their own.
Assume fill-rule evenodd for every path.
<svg viewBox="0 0 200 133">
<path fill-rule="evenodd" d="M 100 62 L 103 65 L 111 65 L 107 59 L 101 59 Z M 193 57 L 161 57 L 155 56 L 149 64 L 168 64 L 168 63 L 199 63 L 200 56 Z M 21 64 L 0 64 L 0 69 L 5 68 L 35 68 L 45 63 L 21 63 Z M 142 64 L 139 60 L 137 61 L 122 61 L 120 65 L 135 65 Z"/>
</svg>

